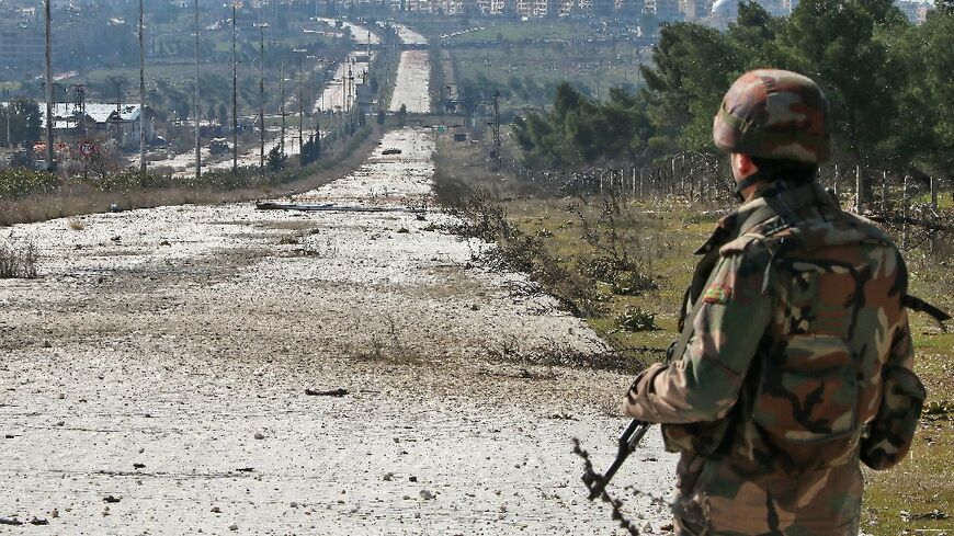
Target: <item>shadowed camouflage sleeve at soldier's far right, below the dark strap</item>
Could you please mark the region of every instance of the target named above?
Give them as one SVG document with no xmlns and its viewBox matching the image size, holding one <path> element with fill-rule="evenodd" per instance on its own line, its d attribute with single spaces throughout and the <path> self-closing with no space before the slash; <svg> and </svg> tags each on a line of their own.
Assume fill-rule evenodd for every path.
<svg viewBox="0 0 954 536">
<path fill-rule="evenodd" d="M 889 469 L 908 454 L 927 392 L 911 370 L 915 350 L 908 316 L 891 341 L 888 362 L 882 370 L 882 401 L 866 436 L 861 442 L 860 457 L 872 469 Z"/>
</svg>

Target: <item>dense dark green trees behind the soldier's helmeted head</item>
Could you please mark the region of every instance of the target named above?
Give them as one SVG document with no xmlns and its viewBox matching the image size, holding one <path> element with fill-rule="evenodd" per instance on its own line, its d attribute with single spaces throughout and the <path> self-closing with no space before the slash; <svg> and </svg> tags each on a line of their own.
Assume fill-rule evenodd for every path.
<svg viewBox="0 0 954 536">
<path fill-rule="evenodd" d="M 515 119 L 514 138 L 529 167 L 716 153 L 712 122 L 722 96 L 742 72 L 773 67 L 824 89 L 834 163 L 950 178 L 954 2 L 935 5 L 922 24 L 890 0 L 803 0 L 785 18 L 740 2 L 725 32 L 663 25 L 638 92 L 614 89 L 597 101 L 565 83 L 546 111 Z"/>
</svg>

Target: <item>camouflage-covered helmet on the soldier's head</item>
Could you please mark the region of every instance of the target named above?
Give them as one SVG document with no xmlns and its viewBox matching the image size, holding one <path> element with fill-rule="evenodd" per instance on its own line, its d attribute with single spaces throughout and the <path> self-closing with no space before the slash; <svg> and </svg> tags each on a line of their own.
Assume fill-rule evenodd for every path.
<svg viewBox="0 0 954 536">
<path fill-rule="evenodd" d="M 811 79 L 780 70 L 746 72 L 723 98 L 713 140 L 726 152 L 819 163 L 828 160 L 828 100 Z"/>
</svg>

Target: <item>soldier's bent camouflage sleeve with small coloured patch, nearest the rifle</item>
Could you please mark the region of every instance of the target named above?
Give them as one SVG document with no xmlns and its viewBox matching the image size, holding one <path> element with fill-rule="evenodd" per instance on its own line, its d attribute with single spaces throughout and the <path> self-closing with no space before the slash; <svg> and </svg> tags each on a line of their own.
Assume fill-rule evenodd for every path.
<svg viewBox="0 0 954 536">
<path fill-rule="evenodd" d="M 756 354 L 772 312 L 762 289 L 770 255 L 758 241 L 716 264 L 681 358 L 636 377 L 623 402 L 626 414 L 650 422 L 691 423 L 725 417 Z M 677 356 L 674 356 L 677 357 Z"/>
</svg>

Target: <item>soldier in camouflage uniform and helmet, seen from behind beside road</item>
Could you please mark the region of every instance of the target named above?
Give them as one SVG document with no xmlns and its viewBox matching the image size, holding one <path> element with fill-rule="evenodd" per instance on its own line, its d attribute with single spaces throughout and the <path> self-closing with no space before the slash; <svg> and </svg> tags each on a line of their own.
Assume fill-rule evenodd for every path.
<svg viewBox="0 0 954 536">
<path fill-rule="evenodd" d="M 859 460 L 910 447 L 918 300 L 891 240 L 816 183 L 827 121 L 818 85 L 784 70 L 742 75 L 715 117 L 743 203 L 696 252 L 669 363 L 624 401 L 681 453 L 678 535 L 855 535 Z"/>
</svg>

